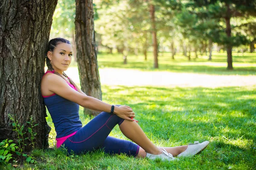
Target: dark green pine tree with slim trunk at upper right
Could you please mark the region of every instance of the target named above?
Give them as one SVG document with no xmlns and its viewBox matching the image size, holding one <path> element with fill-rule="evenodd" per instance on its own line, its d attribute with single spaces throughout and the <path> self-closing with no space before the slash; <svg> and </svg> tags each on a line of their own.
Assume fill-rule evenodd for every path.
<svg viewBox="0 0 256 170">
<path fill-rule="evenodd" d="M 239 32 L 232 34 L 233 17 L 248 17 L 256 15 L 256 3 L 253 0 L 192 0 L 195 7 L 200 7 L 198 11 L 204 16 L 224 20 L 225 35 L 221 34 L 220 40 L 227 48 L 227 69 L 232 70 L 232 47 L 246 43 L 246 37 Z"/>
</svg>

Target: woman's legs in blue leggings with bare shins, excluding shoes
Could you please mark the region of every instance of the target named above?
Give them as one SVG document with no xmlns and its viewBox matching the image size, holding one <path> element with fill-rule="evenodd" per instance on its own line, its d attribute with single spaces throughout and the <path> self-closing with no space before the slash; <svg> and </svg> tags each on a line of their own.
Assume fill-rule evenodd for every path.
<svg viewBox="0 0 256 170">
<path fill-rule="evenodd" d="M 143 149 L 140 148 L 138 151 L 139 147 L 132 142 L 129 143 L 129 141 L 120 142 L 121 139 L 118 139 L 119 141 L 117 139 L 109 140 L 110 138 L 108 138 L 108 135 L 113 127 L 115 127 L 117 124 L 119 124 L 122 133 L 124 133 L 126 137 L 139 144 Z M 116 153 L 116 149 L 113 148 L 116 146 L 119 148 L 118 153 L 134 155 L 134 152 L 136 152 L 134 156 L 138 155 L 145 157 L 145 150 L 148 153 L 155 155 L 162 153 L 162 149 L 160 147 L 156 147 L 148 139 L 143 130 L 135 121 L 127 121 L 116 116 L 115 114 L 106 112 L 100 113 L 87 125 L 78 130 L 74 136 L 71 136 L 64 142 L 64 146 L 67 147 L 68 152 L 73 150 L 74 153 L 87 152 L 99 147 L 106 147 L 107 145 L 111 145 L 111 147 L 106 148 L 108 153 Z M 172 151 L 177 152 L 178 154 L 180 153 L 180 151 L 177 149 L 172 149 Z M 170 153 L 172 152 L 170 151 Z"/>
</svg>

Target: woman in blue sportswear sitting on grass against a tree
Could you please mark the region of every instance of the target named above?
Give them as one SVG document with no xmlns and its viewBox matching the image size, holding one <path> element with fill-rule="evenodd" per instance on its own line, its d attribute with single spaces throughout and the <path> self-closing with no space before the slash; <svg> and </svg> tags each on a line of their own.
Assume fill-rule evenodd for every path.
<svg viewBox="0 0 256 170">
<path fill-rule="evenodd" d="M 103 149 L 111 154 L 126 153 L 134 157 L 174 160 L 175 156 L 193 156 L 207 147 L 208 141 L 186 146 L 156 147 L 137 120 L 133 119 L 135 113 L 132 108 L 109 105 L 87 96 L 64 74 L 72 60 L 72 51 L 68 40 L 50 40 L 46 56 L 48 70 L 41 81 L 41 93 L 57 133 L 57 148 L 64 145 L 69 153 L 76 154 Z M 102 113 L 82 127 L 79 105 Z M 122 133 L 136 144 L 108 136 L 117 124 Z"/>
</svg>

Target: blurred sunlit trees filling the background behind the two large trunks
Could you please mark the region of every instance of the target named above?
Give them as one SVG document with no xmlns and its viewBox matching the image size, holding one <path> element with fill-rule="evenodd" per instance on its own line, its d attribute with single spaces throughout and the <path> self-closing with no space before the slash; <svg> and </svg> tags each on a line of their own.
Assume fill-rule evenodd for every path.
<svg viewBox="0 0 256 170">
<path fill-rule="evenodd" d="M 160 69 L 179 71 L 169 61 L 193 60 L 230 70 L 233 62 L 246 62 L 235 66 L 255 72 L 253 0 L 94 0 L 93 6 L 99 67 L 150 70 L 159 62 Z M 50 39 L 70 40 L 76 61 L 75 11 L 75 0 L 58 0 Z"/>
</svg>

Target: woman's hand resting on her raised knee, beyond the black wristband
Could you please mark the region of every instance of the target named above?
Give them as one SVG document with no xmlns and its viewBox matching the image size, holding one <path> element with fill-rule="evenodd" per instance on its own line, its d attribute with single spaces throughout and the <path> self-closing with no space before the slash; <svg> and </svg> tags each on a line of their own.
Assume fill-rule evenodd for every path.
<svg viewBox="0 0 256 170">
<path fill-rule="evenodd" d="M 135 113 L 132 111 L 130 106 L 122 105 L 122 106 L 115 106 L 114 113 L 121 117 L 122 119 L 134 121 L 131 118 L 135 117 Z"/>
</svg>

